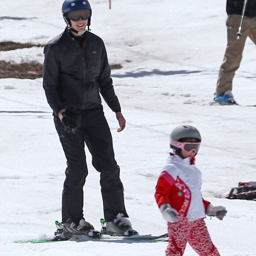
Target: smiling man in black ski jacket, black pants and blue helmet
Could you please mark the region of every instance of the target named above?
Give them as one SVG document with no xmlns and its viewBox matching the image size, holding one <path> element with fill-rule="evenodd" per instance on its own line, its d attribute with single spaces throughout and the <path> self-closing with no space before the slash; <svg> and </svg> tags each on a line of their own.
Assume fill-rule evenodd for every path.
<svg viewBox="0 0 256 256">
<path fill-rule="evenodd" d="M 99 94 L 116 113 L 120 124 L 117 132 L 121 132 L 125 119 L 113 89 L 104 43 L 88 31 L 91 8 L 87 0 L 65 0 L 62 13 L 67 27 L 45 46 L 43 74 L 46 98 L 67 158 L 62 194 L 64 228 L 57 236 L 90 234 L 94 230 L 83 218 L 83 185 L 88 174 L 84 143 L 100 172 L 107 233 L 136 234 L 126 218 L 120 169 Z"/>
</svg>

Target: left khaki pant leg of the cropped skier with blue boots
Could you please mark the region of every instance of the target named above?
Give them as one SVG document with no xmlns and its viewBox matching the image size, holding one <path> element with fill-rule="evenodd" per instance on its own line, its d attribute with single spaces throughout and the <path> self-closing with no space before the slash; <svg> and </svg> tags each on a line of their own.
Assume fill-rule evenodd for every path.
<svg viewBox="0 0 256 256">
<path fill-rule="evenodd" d="M 229 15 L 226 21 L 228 42 L 218 75 L 216 87 L 218 94 L 232 90 L 233 78 L 242 60 L 245 41 L 250 31 L 252 18 L 244 17 L 241 29 L 242 36 L 240 39 L 237 39 L 240 22 L 241 15 Z"/>
</svg>

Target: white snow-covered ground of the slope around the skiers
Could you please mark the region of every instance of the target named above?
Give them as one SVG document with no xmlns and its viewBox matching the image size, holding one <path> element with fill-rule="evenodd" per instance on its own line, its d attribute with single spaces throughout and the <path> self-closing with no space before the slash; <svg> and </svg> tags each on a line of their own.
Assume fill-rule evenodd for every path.
<svg viewBox="0 0 256 256">
<path fill-rule="evenodd" d="M 117 133 L 104 104 L 121 168 L 125 201 L 140 234 L 166 233 L 154 186 L 169 152 L 169 133 L 180 124 L 203 137 L 197 166 L 206 200 L 227 207 L 223 221 L 206 218 L 222 256 L 256 256 L 253 201 L 227 200 L 239 181 L 256 181 L 255 108 L 211 105 L 226 48 L 224 0 L 91 0 L 92 32 L 105 41 L 116 93 L 127 120 Z M 0 41 L 44 44 L 64 30 L 62 0 L 1 0 Z M 22 18 L 22 19 L 21 19 Z M 233 94 L 256 104 L 256 47 L 248 39 Z M 1 60 L 43 61 L 43 49 L 0 52 Z M 52 235 L 61 220 L 65 158 L 42 79 L 0 79 L 0 255 L 161 256 L 166 243 L 60 242 L 15 244 Z M 103 217 L 99 174 L 91 166 L 84 187 L 84 214 L 100 229 Z M 186 256 L 196 253 L 188 245 Z"/>
</svg>

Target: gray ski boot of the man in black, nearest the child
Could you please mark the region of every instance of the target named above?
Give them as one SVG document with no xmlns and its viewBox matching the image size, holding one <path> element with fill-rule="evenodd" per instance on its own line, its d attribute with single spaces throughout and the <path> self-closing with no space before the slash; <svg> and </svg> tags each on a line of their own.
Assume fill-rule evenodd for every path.
<svg viewBox="0 0 256 256">
<path fill-rule="evenodd" d="M 106 233 L 110 236 L 130 237 L 138 235 L 138 232 L 132 228 L 131 222 L 123 214 L 118 214 L 112 222 L 106 222 Z"/>
</svg>

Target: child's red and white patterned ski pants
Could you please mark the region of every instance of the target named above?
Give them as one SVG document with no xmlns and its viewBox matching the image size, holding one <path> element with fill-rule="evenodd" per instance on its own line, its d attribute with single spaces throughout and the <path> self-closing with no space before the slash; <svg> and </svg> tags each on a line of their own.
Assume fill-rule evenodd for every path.
<svg viewBox="0 0 256 256">
<path fill-rule="evenodd" d="M 169 245 L 166 256 L 182 256 L 187 242 L 200 256 L 220 256 L 213 245 L 203 218 L 188 222 L 183 218 L 180 222 L 168 222 Z"/>
</svg>

